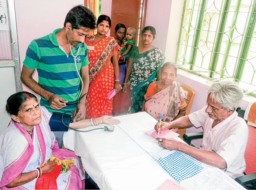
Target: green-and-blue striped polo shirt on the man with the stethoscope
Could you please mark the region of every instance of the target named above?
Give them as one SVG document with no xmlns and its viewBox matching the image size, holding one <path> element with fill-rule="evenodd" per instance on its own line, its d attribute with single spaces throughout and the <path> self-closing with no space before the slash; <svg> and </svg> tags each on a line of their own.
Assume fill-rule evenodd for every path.
<svg viewBox="0 0 256 190">
<path fill-rule="evenodd" d="M 67 57 L 67 54 L 59 48 L 55 34 L 60 30 L 61 28 L 58 28 L 45 37 L 33 40 L 26 51 L 23 64 L 27 68 L 37 69 L 38 84 L 42 88 L 61 96 L 64 100 L 75 102 L 79 98 L 80 78 L 71 52 Z M 79 45 L 72 48 L 73 55 L 77 55 Z M 79 73 L 81 67 L 89 64 L 85 43 L 81 44 L 76 64 Z M 50 108 L 49 101 L 42 96 L 40 105 L 45 106 L 50 112 L 56 111 Z M 75 108 L 76 104 L 67 105 L 58 112 L 75 111 Z"/>
</svg>

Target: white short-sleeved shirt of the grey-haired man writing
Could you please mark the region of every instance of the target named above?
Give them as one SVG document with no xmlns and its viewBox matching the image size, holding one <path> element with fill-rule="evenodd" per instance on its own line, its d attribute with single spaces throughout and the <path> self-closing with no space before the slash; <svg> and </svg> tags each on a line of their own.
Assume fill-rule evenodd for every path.
<svg viewBox="0 0 256 190">
<path fill-rule="evenodd" d="M 245 170 L 244 151 L 248 138 L 248 127 L 244 119 L 234 111 L 227 119 L 212 128 L 214 119 L 205 112 L 207 106 L 189 114 L 195 127 L 204 130 L 201 148 L 218 153 L 226 162 L 226 173 L 232 178 L 242 176 Z"/>
</svg>

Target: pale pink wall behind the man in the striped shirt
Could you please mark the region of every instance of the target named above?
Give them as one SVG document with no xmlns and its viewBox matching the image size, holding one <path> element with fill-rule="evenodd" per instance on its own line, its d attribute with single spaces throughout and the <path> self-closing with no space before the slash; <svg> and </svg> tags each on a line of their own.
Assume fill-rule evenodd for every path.
<svg viewBox="0 0 256 190">
<path fill-rule="evenodd" d="M 62 28 L 68 11 L 80 4 L 84 0 L 15 0 L 20 68 L 30 42 Z M 37 72 L 34 79 L 38 81 Z M 23 90 L 29 91 L 24 85 Z"/>
</svg>

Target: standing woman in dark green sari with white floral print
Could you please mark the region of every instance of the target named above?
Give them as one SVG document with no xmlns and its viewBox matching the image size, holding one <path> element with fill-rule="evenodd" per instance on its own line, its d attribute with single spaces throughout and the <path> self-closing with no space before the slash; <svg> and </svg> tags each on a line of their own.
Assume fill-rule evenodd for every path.
<svg viewBox="0 0 256 190">
<path fill-rule="evenodd" d="M 142 43 L 132 48 L 128 58 L 122 91 L 126 93 L 128 79 L 130 78 L 131 107 L 130 113 L 141 111 L 144 95 L 148 85 L 157 80 L 157 71 L 163 65 L 165 57 L 160 49 L 154 47 L 155 28 L 146 26 L 141 33 Z"/>
</svg>

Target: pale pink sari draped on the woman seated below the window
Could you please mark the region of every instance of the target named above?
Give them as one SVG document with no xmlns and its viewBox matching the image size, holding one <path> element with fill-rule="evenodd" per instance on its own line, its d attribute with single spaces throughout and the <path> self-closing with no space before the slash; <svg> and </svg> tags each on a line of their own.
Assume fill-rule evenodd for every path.
<svg viewBox="0 0 256 190">
<path fill-rule="evenodd" d="M 178 115 L 180 103 L 186 100 L 187 94 L 188 92 L 180 87 L 180 83 L 174 81 L 169 87 L 146 99 L 145 111 L 154 119 L 159 120 L 162 114 L 164 122 L 171 122 Z M 182 106 L 185 107 L 186 102 Z"/>
</svg>

